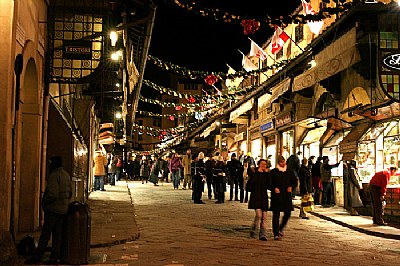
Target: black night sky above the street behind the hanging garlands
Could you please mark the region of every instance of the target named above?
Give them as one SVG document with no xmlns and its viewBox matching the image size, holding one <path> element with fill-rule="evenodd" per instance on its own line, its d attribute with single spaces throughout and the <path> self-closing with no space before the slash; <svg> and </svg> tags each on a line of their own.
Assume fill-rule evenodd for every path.
<svg viewBox="0 0 400 266">
<path fill-rule="evenodd" d="M 182 0 L 185 1 L 185 0 Z M 202 17 L 186 11 L 173 0 L 160 0 L 149 54 L 163 61 L 200 71 L 226 72 L 229 64 L 241 70 L 242 55 L 247 54 L 252 38 L 260 46 L 273 34 L 273 29 L 261 27 L 256 34 L 244 35 L 243 27 Z M 291 14 L 301 0 L 201 0 L 202 7 L 219 8 L 233 15 L 247 15 L 254 18 L 277 18 Z M 167 71 L 147 63 L 145 79 L 169 87 Z M 157 95 L 146 86 L 142 89 L 145 97 Z M 145 105 L 141 105 L 147 109 Z M 152 105 L 151 108 L 154 108 Z"/>
</svg>

